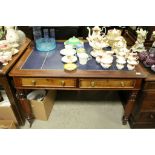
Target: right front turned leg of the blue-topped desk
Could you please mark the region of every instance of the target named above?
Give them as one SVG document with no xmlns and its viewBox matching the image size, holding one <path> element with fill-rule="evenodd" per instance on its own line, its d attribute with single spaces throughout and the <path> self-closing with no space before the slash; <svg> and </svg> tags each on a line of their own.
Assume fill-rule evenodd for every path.
<svg viewBox="0 0 155 155">
<path fill-rule="evenodd" d="M 124 115 L 123 115 L 123 119 L 122 119 L 123 125 L 126 125 L 128 122 L 128 119 L 132 113 L 132 110 L 133 110 L 135 102 L 136 102 L 137 94 L 138 94 L 137 90 L 132 91 L 131 95 L 127 101 L 127 104 L 125 105 Z"/>
</svg>

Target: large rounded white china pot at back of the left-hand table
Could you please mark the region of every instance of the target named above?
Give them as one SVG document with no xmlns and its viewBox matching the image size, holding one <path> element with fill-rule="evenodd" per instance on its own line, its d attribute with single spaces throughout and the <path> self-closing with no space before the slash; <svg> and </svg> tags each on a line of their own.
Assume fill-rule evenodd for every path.
<svg viewBox="0 0 155 155">
<path fill-rule="evenodd" d="M 17 27 L 14 26 L 5 26 L 6 29 L 6 40 L 9 43 L 17 43 L 19 41 L 19 36 L 16 30 Z"/>
</svg>

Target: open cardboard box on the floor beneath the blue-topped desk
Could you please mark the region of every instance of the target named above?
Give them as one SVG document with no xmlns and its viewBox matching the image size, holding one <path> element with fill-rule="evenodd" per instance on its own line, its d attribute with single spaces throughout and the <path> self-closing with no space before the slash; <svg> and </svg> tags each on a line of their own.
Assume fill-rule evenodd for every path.
<svg viewBox="0 0 155 155">
<path fill-rule="evenodd" d="M 30 104 L 34 117 L 38 120 L 46 121 L 49 118 L 54 105 L 56 91 L 50 90 L 42 101 L 31 100 Z"/>
</svg>

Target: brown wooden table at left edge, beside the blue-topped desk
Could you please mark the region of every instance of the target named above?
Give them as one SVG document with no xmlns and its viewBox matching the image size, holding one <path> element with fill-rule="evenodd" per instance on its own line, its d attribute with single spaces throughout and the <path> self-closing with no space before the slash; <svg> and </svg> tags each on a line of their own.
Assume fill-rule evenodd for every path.
<svg viewBox="0 0 155 155">
<path fill-rule="evenodd" d="M 30 39 L 27 38 L 25 43 L 19 48 L 19 53 L 14 55 L 12 57 L 12 60 L 6 66 L 3 66 L 2 64 L 0 65 L 0 84 L 6 91 L 6 94 L 9 98 L 9 101 L 11 103 L 12 109 L 15 113 L 19 125 L 24 124 L 24 118 L 20 110 L 21 109 L 20 104 L 18 104 L 18 101 L 16 99 L 15 89 L 13 88 L 11 78 L 8 76 L 8 72 L 11 70 L 16 61 L 24 53 L 30 42 L 31 42 Z"/>
</svg>

